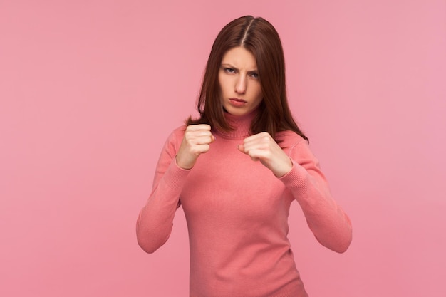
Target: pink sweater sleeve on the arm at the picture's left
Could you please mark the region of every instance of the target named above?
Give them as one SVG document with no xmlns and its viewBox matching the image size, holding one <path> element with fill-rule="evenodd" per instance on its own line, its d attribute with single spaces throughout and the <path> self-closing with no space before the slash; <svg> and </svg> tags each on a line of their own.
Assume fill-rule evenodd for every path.
<svg viewBox="0 0 446 297">
<path fill-rule="evenodd" d="M 158 160 L 152 193 L 142 207 L 136 223 L 138 244 L 153 253 L 169 239 L 173 218 L 180 207 L 180 193 L 190 170 L 177 166 L 176 131 L 167 138 Z"/>
</svg>

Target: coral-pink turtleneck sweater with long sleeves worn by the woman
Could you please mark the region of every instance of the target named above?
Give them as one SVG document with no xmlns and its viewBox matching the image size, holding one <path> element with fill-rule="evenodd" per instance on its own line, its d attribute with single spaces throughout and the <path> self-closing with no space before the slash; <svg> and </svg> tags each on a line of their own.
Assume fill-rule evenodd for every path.
<svg viewBox="0 0 446 297">
<path fill-rule="evenodd" d="M 302 137 L 277 135 L 294 165 L 277 178 L 237 149 L 254 113 L 226 116 L 237 130 L 213 131 L 217 140 L 191 170 L 175 163 L 185 127 L 168 137 L 138 217 L 138 243 L 149 253 L 162 246 L 181 205 L 190 238 L 190 296 L 307 296 L 287 238 L 291 202 L 299 202 L 316 239 L 333 251 L 350 244 L 350 220 Z"/>
</svg>

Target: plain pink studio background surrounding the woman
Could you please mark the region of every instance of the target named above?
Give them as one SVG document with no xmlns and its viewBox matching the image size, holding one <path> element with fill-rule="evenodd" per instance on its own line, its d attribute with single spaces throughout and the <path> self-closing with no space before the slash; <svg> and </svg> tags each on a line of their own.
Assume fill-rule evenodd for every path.
<svg viewBox="0 0 446 297">
<path fill-rule="evenodd" d="M 0 296 L 188 296 L 182 211 L 155 254 L 135 220 L 244 14 L 279 31 L 291 108 L 353 221 L 336 254 L 292 205 L 308 293 L 446 296 L 440 0 L 0 1 Z"/>
</svg>

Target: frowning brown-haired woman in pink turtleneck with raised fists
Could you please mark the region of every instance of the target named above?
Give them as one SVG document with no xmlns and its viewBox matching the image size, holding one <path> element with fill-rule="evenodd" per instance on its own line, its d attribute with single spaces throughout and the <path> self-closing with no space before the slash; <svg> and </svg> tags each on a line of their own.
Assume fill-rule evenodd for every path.
<svg viewBox="0 0 446 297">
<path fill-rule="evenodd" d="M 351 223 L 332 199 L 286 99 L 284 54 L 268 21 L 220 31 L 207 61 L 200 117 L 174 130 L 137 223 L 148 253 L 175 211 L 190 235 L 190 296 L 307 296 L 287 239 L 296 200 L 323 246 L 346 251 Z"/>
</svg>

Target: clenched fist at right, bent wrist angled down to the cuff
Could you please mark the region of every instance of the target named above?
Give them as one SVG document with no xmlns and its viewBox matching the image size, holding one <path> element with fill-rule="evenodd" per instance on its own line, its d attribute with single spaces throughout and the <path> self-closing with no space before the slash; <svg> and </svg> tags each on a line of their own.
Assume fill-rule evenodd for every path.
<svg viewBox="0 0 446 297">
<path fill-rule="evenodd" d="M 293 167 L 291 159 L 267 132 L 251 135 L 238 145 L 239 151 L 249 155 L 252 160 L 260 161 L 276 177 L 283 177 Z"/>
</svg>

